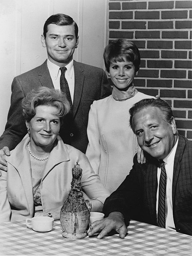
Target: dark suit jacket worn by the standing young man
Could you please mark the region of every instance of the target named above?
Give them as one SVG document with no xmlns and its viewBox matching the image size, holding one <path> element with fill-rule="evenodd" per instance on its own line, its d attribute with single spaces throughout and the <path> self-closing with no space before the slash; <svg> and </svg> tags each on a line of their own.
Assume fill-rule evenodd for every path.
<svg viewBox="0 0 192 256">
<path fill-rule="evenodd" d="M 111 94 L 105 71 L 74 61 L 75 91 L 72 116 L 68 115 L 61 126 L 60 135 L 64 143 L 85 153 L 87 139 L 87 121 L 90 105 L 93 100 L 107 97 Z M 26 134 L 26 125 L 22 115 L 21 100 L 33 88 L 46 86 L 54 88 L 47 68 L 47 61 L 13 79 L 11 106 L 5 131 L 0 137 L 0 148 L 8 146 L 10 150 L 22 140 Z"/>
</svg>

